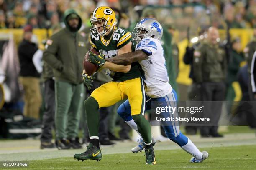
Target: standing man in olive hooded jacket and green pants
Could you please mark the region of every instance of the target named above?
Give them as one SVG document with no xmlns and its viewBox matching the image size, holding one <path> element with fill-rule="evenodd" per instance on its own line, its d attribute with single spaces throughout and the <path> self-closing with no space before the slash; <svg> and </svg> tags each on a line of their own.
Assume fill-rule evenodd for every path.
<svg viewBox="0 0 256 170">
<path fill-rule="evenodd" d="M 55 127 L 58 149 L 82 148 L 78 126 L 84 85 L 81 79 L 83 59 L 87 52 L 84 37 L 78 33 L 82 20 L 73 9 L 64 13 L 66 28 L 46 42 L 43 60 L 53 68 L 55 78 Z"/>
</svg>

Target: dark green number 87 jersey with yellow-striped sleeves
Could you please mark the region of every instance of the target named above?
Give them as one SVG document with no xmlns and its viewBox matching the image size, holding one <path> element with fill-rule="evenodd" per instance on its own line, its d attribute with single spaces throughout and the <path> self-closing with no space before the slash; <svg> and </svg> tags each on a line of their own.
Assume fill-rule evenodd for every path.
<svg viewBox="0 0 256 170">
<path fill-rule="evenodd" d="M 129 42 L 131 42 L 131 32 L 119 27 L 113 28 L 113 33 L 109 40 L 105 40 L 103 36 L 96 37 L 93 34 L 90 35 L 90 44 L 98 52 L 102 49 L 105 58 L 117 56 L 118 50 Z M 131 64 L 129 72 L 115 72 L 113 81 L 123 82 L 138 77 L 142 77 L 140 65 L 138 62 L 134 62 Z"/>
</svg>

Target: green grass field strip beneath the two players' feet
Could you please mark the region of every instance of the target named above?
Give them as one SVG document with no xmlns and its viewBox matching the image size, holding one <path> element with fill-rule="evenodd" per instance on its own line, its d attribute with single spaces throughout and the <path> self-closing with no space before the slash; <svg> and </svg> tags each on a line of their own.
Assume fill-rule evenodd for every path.
<svg viewBox="0 0 256 170">
<path fill-rule="evenodd" d="M 156 165 L 145 165 L 144 153 L 125 153 L 103 155 L 100 162 L 96 160 L 77 161 L 74 158 L 54 158 L 47 160 L 31 160 L 27 168 L 29 170 L 255 170 L 256 169 L 256 145 L 242 145 L 232 147 L 200 148 L 207 150 L 209 158 L 203 163 L 189 163 L 191 156 L 182 149 L 157 150 Z M 10 169 L 14 168 L 3 168 Z"/>
</svg>

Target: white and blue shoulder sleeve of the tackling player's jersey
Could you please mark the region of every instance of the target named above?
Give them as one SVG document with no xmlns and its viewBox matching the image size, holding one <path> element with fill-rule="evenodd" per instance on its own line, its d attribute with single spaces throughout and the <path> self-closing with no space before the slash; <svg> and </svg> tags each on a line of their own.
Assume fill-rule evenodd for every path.
<svg viewBox="0 0 256 170">
<path fill-rule="evenodd" d="M 142 50 L 148 55 L 154 55 L 156 53 L 157 46 L 153 40 L 144 39 L 138 43 L 136 50 Z"/>
</svg>

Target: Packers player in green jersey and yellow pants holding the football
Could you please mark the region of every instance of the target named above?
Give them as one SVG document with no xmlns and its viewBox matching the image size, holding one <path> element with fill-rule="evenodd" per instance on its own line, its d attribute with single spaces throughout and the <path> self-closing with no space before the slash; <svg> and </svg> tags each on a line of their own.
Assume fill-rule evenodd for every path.
<svg viewBox="0 0 256 170">
<path fill-rule="evenodd" d="M 131 52 L 131 32 L 115 27 L 115 12 L 110 7 L 97 7 L 93 11 L 90 21 L 92 23 L 90 43 L 92 48 L 98 52 L 101 51 L 102 57 L 109 58 Z M 98 137 L 98 109 L 109 107 L 120 100 L 128 98 L 133 117 L 131 121 L 134 121 L 138 125 L 138 131 L 146 144 L 146 164 L 156 164 L 151 140 L 150 123 L 144 117 L 145 87 L 140 65 L 138 62 L 134 62 L 128 66 L 106 62 L 103 67 L 114 71 L 112 72 L 113 81 L 101 85 L 85 100 L 84 106 L 90 144 L 84 153 L 74 154 L 74 158 L 77 160 L 101 160 L 102 155 Z M 85 71 L 82 77 L 85 85 L 90 87 L 93 77 L 87 75 Z"/>
</svg>

